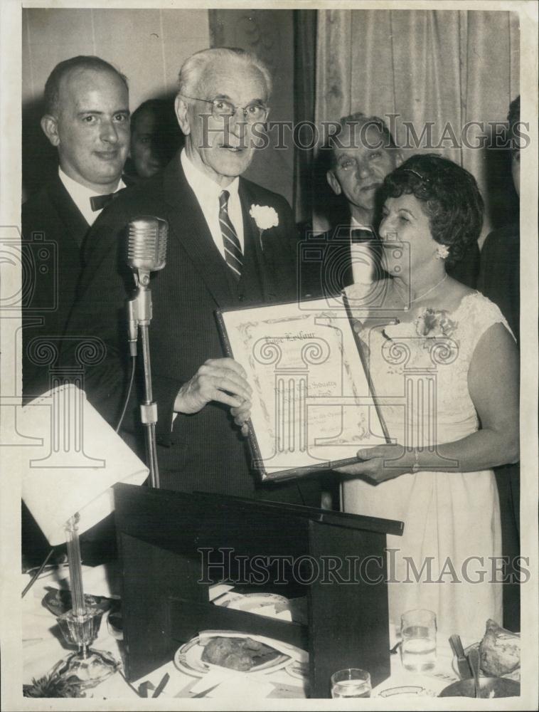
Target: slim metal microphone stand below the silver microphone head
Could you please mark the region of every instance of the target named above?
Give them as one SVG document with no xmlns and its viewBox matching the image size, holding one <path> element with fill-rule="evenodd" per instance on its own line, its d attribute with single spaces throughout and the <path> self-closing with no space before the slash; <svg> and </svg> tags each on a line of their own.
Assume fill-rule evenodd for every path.
<svg viewBox="0 0 539 712">
<path fill-rule="evenodd" d="M 155 426 L 157 422 L 157 404 L 153 402 L 151 392 L 151 364 L 149 347 L 149 323 L 151 321 L 151 291 L 149 290 L 149 271 L 142 269 L 134 273 L 137 295 L 129 300 L 129 342 L 130 348 L 137 348 L 137 325 L 142 341 L 142 362 L 144 365 L 144 403 L 140 406 L 140 417 L 144 425 L 146 439 L 146 457 L 150 470 L 150 485 L 159 489 L 159 466 L 157 464 L 157 442 Z M 134 336 L 134 339 L 133 339 Z M 133 347 L 134 342 L 134 347 Z"/>
</svg>

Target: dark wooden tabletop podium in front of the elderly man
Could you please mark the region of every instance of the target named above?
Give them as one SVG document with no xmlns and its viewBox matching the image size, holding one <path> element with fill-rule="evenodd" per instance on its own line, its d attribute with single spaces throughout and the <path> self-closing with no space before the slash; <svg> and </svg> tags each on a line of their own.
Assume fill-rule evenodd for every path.
<svg viewBox="0 0 539 712">
<path fill-rule="evenodd" d="M 311 698 L 347 667 L 390 675 L 385 535 L 393 520 L 207 493 L 114 488 L 129 681 L 205 629 L 238 630 L 309 651 Z M 209 602 L 213 582 L 306 596 L 301 624 Z"/>
</svg>

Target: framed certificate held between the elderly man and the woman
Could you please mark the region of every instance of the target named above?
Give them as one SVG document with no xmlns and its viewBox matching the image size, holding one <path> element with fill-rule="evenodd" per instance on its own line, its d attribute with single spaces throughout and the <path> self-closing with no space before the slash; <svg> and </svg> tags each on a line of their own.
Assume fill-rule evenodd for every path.
<svg viewBox="0 0 539 712">
<path fill-rule="evenodd" d="M 249 437 L 262 479 L 349 464 L 358 449 L 388 442 L 348 309 L 319 299 L 217 318 L 253 389 Z"/>
</svg>

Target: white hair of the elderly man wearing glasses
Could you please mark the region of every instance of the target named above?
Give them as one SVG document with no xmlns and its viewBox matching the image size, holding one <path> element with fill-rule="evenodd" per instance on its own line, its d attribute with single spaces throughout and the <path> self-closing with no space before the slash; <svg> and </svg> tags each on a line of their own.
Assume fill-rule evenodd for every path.
<svg viewBox="0 0 539 712">
<path fill-rule="evenodd" d="M 233 60 L 259 70 L 264 77 L 267 98 L 269 98 L 272 93 L 272 75 L 269 69 L 255 54 L 236 47 L 214 47 L 192 54 L 183 63 L 178 75 L 178 93 L 185 97 L 196 97 L 198 84 L 206 68 L 213 62 L 226 60 Z"/>
</svg>

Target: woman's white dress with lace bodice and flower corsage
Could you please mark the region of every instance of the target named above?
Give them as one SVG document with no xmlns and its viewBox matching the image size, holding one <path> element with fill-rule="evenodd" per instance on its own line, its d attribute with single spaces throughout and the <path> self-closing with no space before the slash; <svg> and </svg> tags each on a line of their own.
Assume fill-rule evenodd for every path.
<svg viewBox="0 0 539 712">
<path fill-rule="evenodd" d="M 468 387 L 471 358 L 493 324 L 509 327 L 479 292 L 466 295 L 452 313 L 423 314 L 419 322 L 364 329 L 361 340 L 390 437 L 428 452 L 479 429 Z M 432 328 L 422 336 L 425 318 Z M 457 464 L 456 471 L 407 473 L 378 486 L 346 480 L 343 509 L 405 523 L 402 537 L 388 536 L 395 623 L 406 610 L 427 608 L 437 612 L 440 629 L 477 639 L 487 618 L 502 623 L 501 584 L 490 583 L 492 557 L 501 554 L 493 471 L 464 473 Z M 416 575 L 422 567 L 423 576 Z"/>
</svg>

